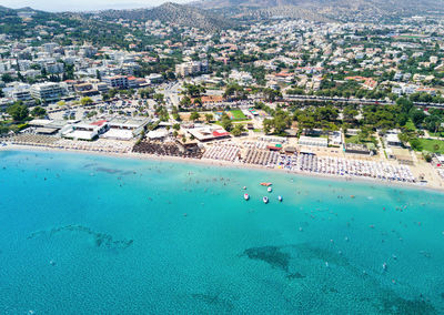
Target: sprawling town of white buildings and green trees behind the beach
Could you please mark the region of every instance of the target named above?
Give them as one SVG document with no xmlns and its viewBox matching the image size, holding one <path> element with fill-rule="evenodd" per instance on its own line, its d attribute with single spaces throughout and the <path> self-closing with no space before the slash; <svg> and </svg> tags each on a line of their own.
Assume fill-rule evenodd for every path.
<svg viewBox="0 0 444 315">
<path fill-rule="evenodd" d="M 0 34 L 3 146 L 444 183 L 444 20 L 112 22 L 110 45 L 51 20 Z"/>
</svg>

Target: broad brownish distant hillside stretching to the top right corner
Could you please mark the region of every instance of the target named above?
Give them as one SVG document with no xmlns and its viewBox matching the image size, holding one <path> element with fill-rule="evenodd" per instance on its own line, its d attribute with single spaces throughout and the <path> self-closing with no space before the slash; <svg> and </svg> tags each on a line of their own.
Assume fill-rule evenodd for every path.
<svg viewBox="0 0 444 315">
<path fill-rule="evenodd" d="M 307 20 L 357 21 L 444 13 L 444 0 L 202 0 L 193 4 L 233 16 Z"/>
</svg>

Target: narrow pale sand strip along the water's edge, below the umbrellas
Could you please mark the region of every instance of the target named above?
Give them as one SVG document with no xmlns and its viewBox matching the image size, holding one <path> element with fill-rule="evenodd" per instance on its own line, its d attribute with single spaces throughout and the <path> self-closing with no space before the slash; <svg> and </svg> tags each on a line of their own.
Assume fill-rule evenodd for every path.
<svg viewBox="0 0 444 315">
<path fill-rule="evenodd" d="M 88 154 L 88 155 L 97 155 L 97 156 L 108 156 L 108 158 L 118 158 L 118 159 L 130 159 L 130 160 L 139 160 L 139 161 L 158 161 L 158 162 L 175 162 L 175 163 L 186 163 L 186 164 L 196 164 L 196 165 L 206 165 L 206 166 L 218 166 L 218 167 L 231 167 L 236 170 L 259 170 L 259 171 L 269 171 L 273 173 L 281 173 L 287 175 L 296 175 L 303 177 L 315 177 L 315 179 L 324 179 L 324 180 L 334 180 L 340 182 L 357 182 L 357 183 L 374 183 L 377 185 L 384 185 L 387 187 L 404 187 L 404 189 L 416 189 L 416 190 L 427 190 L 432 192 L 444 193 L 443 186 L 435 186 L 425 184 L 422 185 L 420 183 L 408 183 L 408 182 L 400 182 L 400 181 L 383 181 L 373 177 L 365 176 L 337 176 L 333 174 L 323 174 L 323 173 L 310 173 L 310 172 L 295 172 L 289 171 L 284 169 L 271 169 L 266 166 L 255 165 L 255 164 L 241 164 L 233 163 L 229 161 L 219 161 L 219 160 L 210 160 L 210 159 L 192 159 L 192 158 L 179 158 L 179 156 L 170 156 L 170 155 L 153 155 L 153 154 L 142 154 L 134 152 L 127 153 L 115 153 L 115 152 L 104 152 L 104 151 L 88 151 L 88 150 L 73 150 L 73 149 L 57 149 L 49 146 L 34 146 L 34 145 L 21 145 L 21 144 L 8 144 L 7 146 L 0 146 L 1 151 L 37 151 L 37 152 L 52 152 L 52 153 L 79 153 L 79 154 Z"/>
</svg>

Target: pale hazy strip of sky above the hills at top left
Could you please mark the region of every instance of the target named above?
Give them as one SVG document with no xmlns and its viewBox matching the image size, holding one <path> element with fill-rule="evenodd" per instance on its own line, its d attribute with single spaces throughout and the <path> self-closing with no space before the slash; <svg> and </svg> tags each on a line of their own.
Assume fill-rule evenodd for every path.
<svg viewBox="0 0 444 315">
<path fill-rule="evenodd" d="M 12 9 L 31 7 L 38 10 L 58 12 L 150 8 L 163 2 L 168 2 L 168 0 L 0 0 L 0 6 Z M 184 3 L 189 1 L 174 0 L 171 2 Z"/>
</svg>

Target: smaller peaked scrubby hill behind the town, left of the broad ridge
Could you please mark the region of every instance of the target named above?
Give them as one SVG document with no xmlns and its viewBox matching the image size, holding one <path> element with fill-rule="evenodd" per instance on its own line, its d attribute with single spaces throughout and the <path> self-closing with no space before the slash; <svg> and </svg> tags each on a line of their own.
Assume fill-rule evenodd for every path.
<svg viewBox="0 0 444 315">
<path fill-rule="evenodd" d="M 165 23 L 195 27 L 208 31 L 228 29 L 235 26 L 232 20 L 216 16 L 210 11 L 172 2 L 167 2 L 152 9 L 107 10 L 102 11 L 100 16 L 131 20 L 160 20 Z"/>
</svg>

